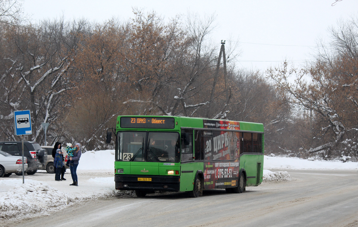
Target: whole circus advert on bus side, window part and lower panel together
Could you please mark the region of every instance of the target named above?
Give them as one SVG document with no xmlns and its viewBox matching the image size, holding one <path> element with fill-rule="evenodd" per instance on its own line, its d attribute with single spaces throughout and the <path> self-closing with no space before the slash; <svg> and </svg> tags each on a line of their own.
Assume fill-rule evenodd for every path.
<svg viewBox="0 0 358 227">
<path fill-rule="evenodd" d="M 205 189 L 235 186 L 236 180 L 232 178 L 237 178 L 240 170 L 239 132 L 205 130 L 200 136 L 204 142 L 204 160 L 227 160 L 204 163 Z"/>
</svg>

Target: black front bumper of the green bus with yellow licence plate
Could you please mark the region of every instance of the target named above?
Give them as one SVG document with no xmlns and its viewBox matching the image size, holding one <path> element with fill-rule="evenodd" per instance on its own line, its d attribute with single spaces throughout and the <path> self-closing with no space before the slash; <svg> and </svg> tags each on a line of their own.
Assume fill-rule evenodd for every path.
<svg viewBox="0 0 358 227">
<path fill-rule="evenodd" d="M 150 181 L 140 181 L 139 178 L 151 178 Z M 114 181 L 117 190 L 156 190 L 166 192 L 179 192 L 179 176 L 159 175 L 123 175 L 115 174 Z"/>
</svg>

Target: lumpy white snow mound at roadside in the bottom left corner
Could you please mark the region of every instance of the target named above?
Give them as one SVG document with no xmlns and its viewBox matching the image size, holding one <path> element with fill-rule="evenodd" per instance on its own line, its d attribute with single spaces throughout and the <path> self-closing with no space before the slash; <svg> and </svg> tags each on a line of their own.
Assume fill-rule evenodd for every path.
<svg viewBox="0 0 358 227">
<path fill-rule="evenodd" d="M 23 214 L 38 213 L 59 208 L 74 201 L 67 193 L 37 180 L 18 180 L 20 185 L 0 197 L 0 218 L 12 218 Z M 1 183 L 6 181 L 2 180 Z"/>
</svg>

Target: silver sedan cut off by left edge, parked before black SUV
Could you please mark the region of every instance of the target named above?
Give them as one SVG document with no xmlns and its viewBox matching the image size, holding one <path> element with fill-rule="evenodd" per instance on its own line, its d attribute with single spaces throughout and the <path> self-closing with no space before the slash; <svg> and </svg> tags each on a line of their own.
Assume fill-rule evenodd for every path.
<svg viewBox="0 0 358 227">
<path fill-rule="evenodd" d="M 27 170 L 27 158 L 24 157 L 24 170 Z M 12 173 L 22 175 L 22 157 L 13 156 L 0 150 L 0 177 L 9 177 Z"/>
</svg>

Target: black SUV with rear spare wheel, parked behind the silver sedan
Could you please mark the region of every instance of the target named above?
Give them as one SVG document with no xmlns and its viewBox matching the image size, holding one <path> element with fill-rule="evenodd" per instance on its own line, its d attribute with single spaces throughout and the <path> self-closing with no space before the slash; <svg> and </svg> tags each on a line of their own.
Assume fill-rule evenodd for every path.
<svg viewBox="0 0 358 227">
<path fill-rule="evenodd" d="M 0 150 L 14 156 L 22 156 L 21 141 L 0 142 Z M 27 174 L 35 174 L 47 161 L 47 152 L 36 142 L 24 141 L 24 156 L 27 158 Z M 21 174 L 22 175 L 22 174 Z"/>
</svg>

